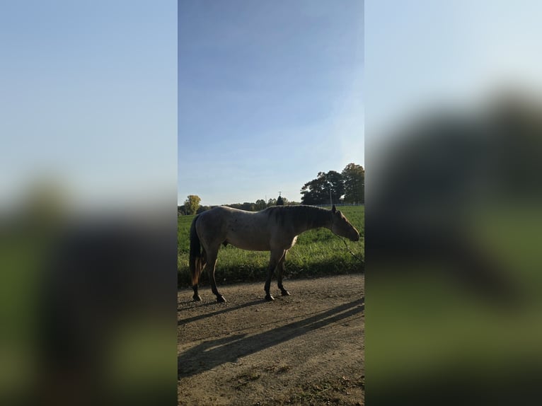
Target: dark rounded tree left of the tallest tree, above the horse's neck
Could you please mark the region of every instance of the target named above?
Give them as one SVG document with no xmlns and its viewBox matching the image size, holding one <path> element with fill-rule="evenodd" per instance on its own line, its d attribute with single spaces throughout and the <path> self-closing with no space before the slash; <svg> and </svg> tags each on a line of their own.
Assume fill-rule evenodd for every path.
<svg viewBox="0 0 542 406">
<path fill-rule="evenodd" d="M 328 173 L 318 172 L 318 178 L 306 182 L 301 188 L 301 202 L 303 204 L 326 204 L 331 199 L 334 203 L 340 201 L 345 194 L 345 183 L 342 175 L 335 170 Z"/>
</svg>

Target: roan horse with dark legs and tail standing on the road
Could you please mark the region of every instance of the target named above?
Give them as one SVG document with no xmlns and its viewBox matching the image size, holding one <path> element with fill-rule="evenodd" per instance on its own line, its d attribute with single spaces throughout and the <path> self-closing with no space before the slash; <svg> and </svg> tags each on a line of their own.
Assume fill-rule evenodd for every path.
<svg viewBox="0 0 542 406">
<path fill-rule="evenodd" d="M 271 251 L 265 299 L 273 300 L 269 290 L 275 269 L 282 296 L 289 296 L 289 292 L 282 286 L 286 254 L 296 243 L 299 234 L 320 227 L 329 228 L 336 235 L 352 241 L 359 240 L 356 228 L 335 209 L 335 205 L 331 210 L 313 206 L 275 206 L 258 212 L 220 206 L 198 214 L 190 227 L 190 271 L 194 301 L 202 300 L 197 294 L 197 283 L 203 268 L 211 279 L 211 289 L 217 301 L 226 301 L 214 280 L 214 266 L 221 244 L 231 244 L 243 250 Z"/>
</svg>

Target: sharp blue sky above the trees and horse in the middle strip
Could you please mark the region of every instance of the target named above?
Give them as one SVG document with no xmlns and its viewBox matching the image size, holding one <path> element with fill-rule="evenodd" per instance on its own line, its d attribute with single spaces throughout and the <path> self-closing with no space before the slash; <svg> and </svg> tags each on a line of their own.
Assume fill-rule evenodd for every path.
<svg viewBox="0 0 542 406">
<path fill-rule="evenodd" d="M 178 3 L 178 202 L 301 201 L 364 166 L 364 4 Z"/>
</svg>

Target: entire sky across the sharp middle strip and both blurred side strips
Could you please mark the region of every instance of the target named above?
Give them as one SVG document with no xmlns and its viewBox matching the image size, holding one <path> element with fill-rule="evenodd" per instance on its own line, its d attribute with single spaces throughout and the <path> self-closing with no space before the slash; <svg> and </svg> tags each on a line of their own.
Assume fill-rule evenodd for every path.
<svg viewBox="0 0 542 406">
<path fill-rule="evenodd" d="M 0 2 L 0 200 L 301 198 L 379 126 L 508 81 L 541 94 L 540 1 Z M 367 119 L 366 119 L 367 117 Z M 365 153 L 367 144 L 367 153 Z"/>
</svg>

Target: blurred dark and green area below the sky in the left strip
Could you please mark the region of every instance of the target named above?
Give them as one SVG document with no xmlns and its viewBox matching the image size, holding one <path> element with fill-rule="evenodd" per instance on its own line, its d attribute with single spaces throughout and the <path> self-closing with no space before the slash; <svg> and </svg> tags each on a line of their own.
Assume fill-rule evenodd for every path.
<svg viewBox="0 0 542 406">
<path fill-rule="evenodd" d="M 43 190 L 1 218 L 0 404 L 174 404 L 175 206 L 75 215 Z"/>
</svg>

